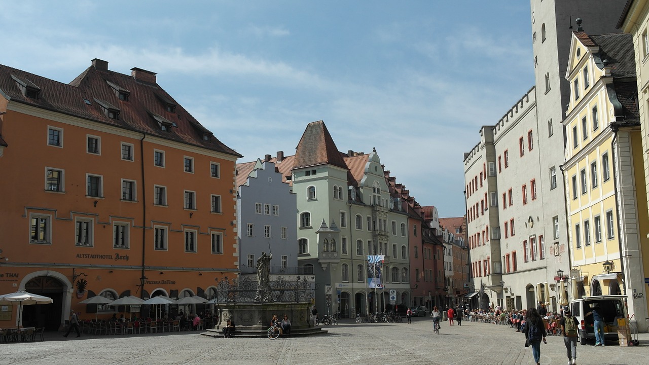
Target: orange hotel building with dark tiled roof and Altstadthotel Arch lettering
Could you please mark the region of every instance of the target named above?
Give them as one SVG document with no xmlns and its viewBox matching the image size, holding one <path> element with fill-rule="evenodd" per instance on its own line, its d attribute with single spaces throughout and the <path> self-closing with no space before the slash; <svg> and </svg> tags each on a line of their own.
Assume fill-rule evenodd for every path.
<svg viewBox="0 0 649 365">
<path fill-rule="evenodd" d="M 24 307 L 23 325 L 111 316 L 78 304 L 95 295 L 210 297 L 236 277 L 241 155 L 155 75 L 95 59 L 63 84 L 0 66 L 0 294 L 54 299 Z M 0 327 L 16 308 L 0 306 Z"/>
</svg>

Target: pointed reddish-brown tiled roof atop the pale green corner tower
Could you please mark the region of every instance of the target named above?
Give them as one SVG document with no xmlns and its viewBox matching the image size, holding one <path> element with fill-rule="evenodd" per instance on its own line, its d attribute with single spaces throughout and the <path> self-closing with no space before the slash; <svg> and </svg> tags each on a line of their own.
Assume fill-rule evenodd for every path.
<svg viewBox="0 0 649 365">
<path fill-rule="evenodd" d="M 347 170 L 347 164 L 326 129 L 324 121 L 309 123 L 296 149 L 293 169 L 330 164 Z"/>
</svg>

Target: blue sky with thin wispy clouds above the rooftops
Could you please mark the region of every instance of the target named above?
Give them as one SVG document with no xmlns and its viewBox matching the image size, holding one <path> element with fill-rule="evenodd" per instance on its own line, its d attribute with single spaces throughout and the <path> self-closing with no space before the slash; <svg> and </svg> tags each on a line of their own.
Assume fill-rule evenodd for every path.
<svg viewBox="0 0 649 365">
<path fill-rule="evenodd" d="M 530 2 L 11 1 L 0 63 L 61 82 L 90 60 L 158 84 L 247 162 L 324 120 L 421 205 L 465 212 L 463 153 L 533 85 Z"/>
</svg>

